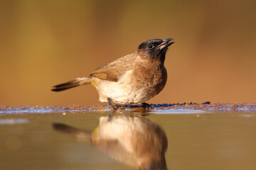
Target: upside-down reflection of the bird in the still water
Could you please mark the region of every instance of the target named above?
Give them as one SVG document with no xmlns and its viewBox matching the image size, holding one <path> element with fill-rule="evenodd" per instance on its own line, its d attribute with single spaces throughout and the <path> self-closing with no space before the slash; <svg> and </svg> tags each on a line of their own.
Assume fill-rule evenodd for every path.
<svg viewBox="0 0 256 170">
<path fill-rule="evenodd" d="M 159 125 L 146 118 L 120 116 L 107 121 L 107 117 L 101 117 L 93 132 L 60 123 L 53 123 L 53 128 L 90 141 L 113 159 L 137 169 L 167 169 L 167 137 Z"/>
</svg>

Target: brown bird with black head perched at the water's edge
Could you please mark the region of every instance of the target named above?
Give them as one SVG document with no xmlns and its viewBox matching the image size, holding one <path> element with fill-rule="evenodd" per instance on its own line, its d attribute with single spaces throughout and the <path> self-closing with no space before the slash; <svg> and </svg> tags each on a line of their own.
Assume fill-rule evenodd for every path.
<svg viewBox="0 0 256 170">
<path fill-rule="evenodd" d="M 54 86 L 63 91 L 83 84 L 97 89 L 100 101 L 118 104 L 144 103 L 164 89 L 167 72 L 164 67 L 166 51 L 173 44 L 166 40 L 147 40 L 131 55 L 121 57 L 82 77 Z"/>
</svg>

